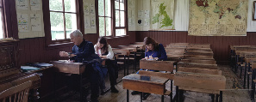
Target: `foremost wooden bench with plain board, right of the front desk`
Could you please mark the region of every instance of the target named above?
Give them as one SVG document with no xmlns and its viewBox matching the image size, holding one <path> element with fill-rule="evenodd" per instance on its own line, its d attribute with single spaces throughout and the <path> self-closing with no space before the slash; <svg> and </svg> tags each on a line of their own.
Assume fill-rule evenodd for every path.
<svg viewBox="0 0 256 102">
<path fill-rule="evenodd" d="M 177 87 L 177 101 L 179 101 L 179 90 L 187 90 L 220 95 L 222 102 L 222 90 L 226 87 L 226 78 L 223 75 L 178 71 L 174 75 L 174 85 Z"/>
</svg>

